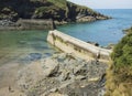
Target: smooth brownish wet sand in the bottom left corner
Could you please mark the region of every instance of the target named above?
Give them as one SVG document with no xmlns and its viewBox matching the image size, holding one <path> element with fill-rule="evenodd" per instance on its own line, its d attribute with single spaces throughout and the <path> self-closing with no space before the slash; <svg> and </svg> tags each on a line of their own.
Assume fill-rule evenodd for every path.
<svg viewBox="0 0 132 96">
<path fill-rule="evenodd" d="M 21 96 L 15 85 L 18 71 L 24 65 L 8 63 L 0 66 L 0 96 Z"/>
</svg>

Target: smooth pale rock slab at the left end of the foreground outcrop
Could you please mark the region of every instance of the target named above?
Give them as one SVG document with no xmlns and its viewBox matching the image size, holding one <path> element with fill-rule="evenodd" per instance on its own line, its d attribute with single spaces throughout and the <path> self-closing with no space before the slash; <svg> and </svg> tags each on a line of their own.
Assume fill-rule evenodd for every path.
<svg viewBox="0 0 132 96">
<path fill-rule="evenodd" d="M 57 71 L 58 62 L 52 58 L 31 63 L 18 73 L 18 85 L 21 90 L 28 90 L 38 81 L 54 76 Z"/>
</svg>

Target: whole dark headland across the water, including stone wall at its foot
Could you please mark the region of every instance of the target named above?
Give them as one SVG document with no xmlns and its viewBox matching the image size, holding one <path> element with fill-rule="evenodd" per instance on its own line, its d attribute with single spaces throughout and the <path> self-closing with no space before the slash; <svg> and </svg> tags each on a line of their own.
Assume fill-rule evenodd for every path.
<svg viewBox="0 0 132 96">
<path fill-rule="evenodd" d="M 106 19 L 66 0 L 0 0 L 0 30 L 53 29 L 54 24 Z"/>
</svg>

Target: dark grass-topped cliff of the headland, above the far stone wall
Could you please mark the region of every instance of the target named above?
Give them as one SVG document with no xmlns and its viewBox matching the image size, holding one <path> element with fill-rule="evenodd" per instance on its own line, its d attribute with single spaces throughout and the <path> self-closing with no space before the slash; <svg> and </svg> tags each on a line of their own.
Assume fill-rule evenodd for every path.
<svg viewBox="0 0 132 96">
<path fill-rule="evenodd" d="M 56 21 L 86 21 L 108 19 L 98 12 L 66 0 L 0 0 L 0 20 L 53 19 Z"/>
</svg>

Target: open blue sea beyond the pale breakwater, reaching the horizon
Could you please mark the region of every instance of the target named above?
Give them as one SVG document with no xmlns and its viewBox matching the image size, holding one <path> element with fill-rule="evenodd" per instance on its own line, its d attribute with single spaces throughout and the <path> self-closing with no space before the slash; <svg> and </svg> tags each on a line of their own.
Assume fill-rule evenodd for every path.
<svg viewBox="0 0 132 96">
<path fill-rule="evenodd" d="M 77 23 L 59 26 L 58 30 L 84 41 L 98 42 L 106 46 L 117 43 L 124 35 L 122 30 L 132 26 L 132 9 L 129 10 L 97 10 L 113 19 L 90 23 Z"/>
</svg>

